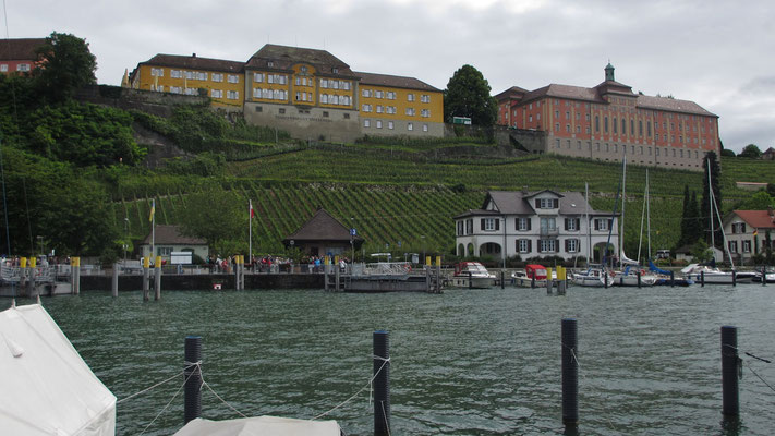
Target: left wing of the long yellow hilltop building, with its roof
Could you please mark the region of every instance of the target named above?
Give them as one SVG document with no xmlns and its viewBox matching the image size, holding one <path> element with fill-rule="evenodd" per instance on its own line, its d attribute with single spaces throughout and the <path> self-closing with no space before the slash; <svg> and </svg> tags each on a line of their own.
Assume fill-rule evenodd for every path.
<svg viewBox="0 0 775 436">
<path fill-rule="evenodd" d="M 130 87 L 160 93 L 201 95 L 213 105 L 241 110 L 244 104 L 244 62 L 192 56 L 156 55 L 130 74 Z"/>
</svg>

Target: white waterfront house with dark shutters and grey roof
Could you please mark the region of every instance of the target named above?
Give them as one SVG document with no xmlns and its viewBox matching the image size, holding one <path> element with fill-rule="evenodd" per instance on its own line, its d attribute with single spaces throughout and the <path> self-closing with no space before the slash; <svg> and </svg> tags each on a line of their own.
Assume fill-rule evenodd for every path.
<svg viewBox="0 0 775 436">
<path fill-rule="evenodd" d="M 489 191 L 481 209 L 453 218 L 456 253 L 502 258 L 505 246 L 506 257 L 591 255 L 600 262 L 606 241 L 608 255 L 618 253 L 616 218 L 592 209 L 578 192 Z"/>
</svg>

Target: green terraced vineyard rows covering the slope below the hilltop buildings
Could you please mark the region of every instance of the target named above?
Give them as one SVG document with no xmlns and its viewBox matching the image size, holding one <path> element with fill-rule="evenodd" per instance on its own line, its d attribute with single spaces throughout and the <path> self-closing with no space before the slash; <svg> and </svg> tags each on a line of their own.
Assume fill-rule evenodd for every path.
<svg viewBox="0 0 775 436">
<path fill-rule="evenodd" d="M 726 208 L 751 195 L 738 190 L 735 181 L 775 180 L 773 165 L 750 166 L 741 159 L 724 159 L 722 164 Z M 282 253 L 281 240 L 323 207 L 346 226 L 358 229 L 366 240 L 367 253 L 389 250 L 395 255 L 423 251 L 447 254 L 455 245 L 452 217 L 479 208 L 487 190 L 583 192 L 588 182 L 592 206 L 610 210 L 620 171 L 618 164 L 550 155 L 472 161 L 412 157 L 405 150 L 393 156 L 385 147 L 370 152 L 346 145 L 303 148 L 232 161 L 228 164 L 228 178 L 138 178 L 123 184 L 114 216 L 117 225 L 126 218 L 129 233 L 143 238 L 150 230 L 149 197 L 157 197 L 158 223 L 177 223 L 186 196 L 215 184 L 238 193 L 240 207 L 245 210 L 245 241 L 246 205 L 252 199 L 257 215 L 253 243 L 261 253 Z M 640 233 L 645 167 L 628 167 L 627 180 L 626 243 L 632 251 L 630 247 L 637 250 Z M 702 172 L 650 169 L 650 180 L 652 249 L 670 247 L 679 235 L 683 185 L 699 193 Z"/>
</svg>

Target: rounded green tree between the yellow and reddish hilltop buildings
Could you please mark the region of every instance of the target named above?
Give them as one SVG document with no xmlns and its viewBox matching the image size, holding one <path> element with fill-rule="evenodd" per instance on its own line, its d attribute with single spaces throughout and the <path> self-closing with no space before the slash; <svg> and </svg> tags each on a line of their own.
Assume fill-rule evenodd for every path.
<svg viewBox="0 0 775 436">
<path fill-rule="evenodd" d="M 444 90 L 444 119 L 452 122 L 452 117 L 469 117 L 476 125 L 495 124 L 498 105 L 489 92 L 489 84 L 479 70 L 461 66 Z"/>
</svg>

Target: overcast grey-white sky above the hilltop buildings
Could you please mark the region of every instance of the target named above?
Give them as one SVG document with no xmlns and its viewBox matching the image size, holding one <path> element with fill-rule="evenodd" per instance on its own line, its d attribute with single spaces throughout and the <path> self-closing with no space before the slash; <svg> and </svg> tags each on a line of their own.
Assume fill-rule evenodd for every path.
<svg viewBox="0 0 775 436">
<path fill-rule="evenodd" d="M 326 49 L 355 71 L 439 89 L 463 64 L 493 95 L 550 83 L 592 87 L 608 60 L 646 95 L 719 117 L 726 148 L 775 146 L 775 1 L 4 0 L 2 36 L 85 38 L 97 80 L 157 53 L 246 61 L 264 44 Z"/>
</svg>

